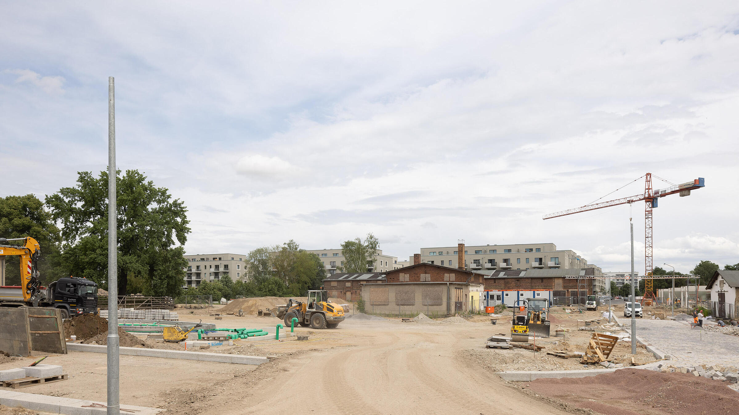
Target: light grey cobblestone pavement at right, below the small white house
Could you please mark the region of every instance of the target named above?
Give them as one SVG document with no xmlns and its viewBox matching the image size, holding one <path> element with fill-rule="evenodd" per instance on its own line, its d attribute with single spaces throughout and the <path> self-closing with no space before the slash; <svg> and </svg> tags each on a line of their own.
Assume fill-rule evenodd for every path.
<svg viewBox="0 0 739 415">
<path fill-rule="evenodd" d="M 621 318 L 625 329 L 631 320 Z M 689 364 L 722 364 L 739 367 L 739 337 L 692 328 L 687 321 L 636 319 L 637 337 Z"/>
</svg>

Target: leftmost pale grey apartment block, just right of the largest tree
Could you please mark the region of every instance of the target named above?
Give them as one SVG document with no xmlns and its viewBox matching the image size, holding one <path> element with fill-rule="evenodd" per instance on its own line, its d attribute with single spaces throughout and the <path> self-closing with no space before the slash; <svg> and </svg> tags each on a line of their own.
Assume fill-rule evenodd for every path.
<svg viewBox="0 0 739 415">
<path fill-rule="evenodd" d="M 245 259 L 246 255 L 235 253 L 185 255 L 188 265 L 183 287 L 197 287 L 202 281 L 217 281 L 225 274 L 234 281 L 242 279 L 246 276 Z"/>
</svg>

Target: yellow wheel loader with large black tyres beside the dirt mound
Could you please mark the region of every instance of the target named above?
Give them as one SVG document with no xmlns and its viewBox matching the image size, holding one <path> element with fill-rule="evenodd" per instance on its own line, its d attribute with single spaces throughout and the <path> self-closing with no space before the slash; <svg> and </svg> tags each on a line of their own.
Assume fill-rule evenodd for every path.
<svg viewBox="0 0 739 415">
<path fill-rule="evenodd" d="M 334 329 L 344 320 L 344 308 L 328 301 L 328 291 L 316 290 L 308 292 L 308 301 L 305 303 L 290 298 L 285 314 L 283 316 L 278 314 L 278 317 L 284 318 L 285 327 L 290 327 L 293 318 L 297 318 L 303 327 Z"/>
</svg>

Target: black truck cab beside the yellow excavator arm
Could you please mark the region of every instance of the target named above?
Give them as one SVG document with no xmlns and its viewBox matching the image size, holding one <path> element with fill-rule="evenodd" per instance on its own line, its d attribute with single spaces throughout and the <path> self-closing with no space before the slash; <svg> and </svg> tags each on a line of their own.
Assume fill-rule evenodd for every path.
<svg viewBox="0 0 739 415">
<path fill-rule="evenodd" d="M 49 284 L 47 303 L 69 317 L 98 312 L 98 285 L 86 278 L 64 277 Z"/>
</svg>

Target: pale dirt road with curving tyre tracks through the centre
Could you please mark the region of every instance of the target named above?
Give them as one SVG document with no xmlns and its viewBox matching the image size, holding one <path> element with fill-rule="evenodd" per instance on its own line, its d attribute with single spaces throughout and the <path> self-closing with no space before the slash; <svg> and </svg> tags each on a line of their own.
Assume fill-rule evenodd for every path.
<svg viewBox="0 0 739 415">
<path fill-rule="evenodd" d="M 565 414 L 466 361 L 477 326 L 346 323 L 356 346 L 285 362 L 222 414 Z"/>
</svg>

